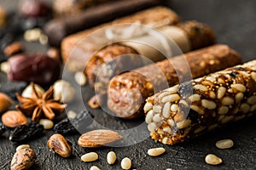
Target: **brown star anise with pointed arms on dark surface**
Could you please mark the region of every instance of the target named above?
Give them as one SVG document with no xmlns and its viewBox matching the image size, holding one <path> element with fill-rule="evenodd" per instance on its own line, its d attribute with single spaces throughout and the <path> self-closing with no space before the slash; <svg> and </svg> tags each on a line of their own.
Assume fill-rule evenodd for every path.
<svg viewBox="0 0 256 170">
<path fill-rule="evenodd" d="M 26 116 L 32 115 L 32 121 L 38 122 L 42 116 L 52 120 L 55 118 L 55 113 L 62 113 L 67 105 L 59 103 L 58 100 L 53 99 L 53 87 L 50 87 L 43 95 L 39 94 L 32 85 L 32 98 L 22 97 L 16 94 L 17 99 L 21 105 L 16 105 L 16 108 L 24 113 Z M 44 115 L 43 115 L 44 114 Z"/>
</svg>

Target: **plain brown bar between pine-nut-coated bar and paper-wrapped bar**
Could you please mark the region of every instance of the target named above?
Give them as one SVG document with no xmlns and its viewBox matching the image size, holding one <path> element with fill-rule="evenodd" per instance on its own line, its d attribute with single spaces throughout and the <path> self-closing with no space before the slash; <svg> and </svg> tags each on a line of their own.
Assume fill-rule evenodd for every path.
<svg viewBox="0 0 256 170">
<path fill-rule="evenodd" d="M 218 44 L 125 72 L 113 77 L 109 84 L 108 108 L 124 118 L 143 116 L 143 105 L 148 96 L 179 82 L 238 64 L 241 64 L 240 55 L 228 46 Z"/>
</svg>

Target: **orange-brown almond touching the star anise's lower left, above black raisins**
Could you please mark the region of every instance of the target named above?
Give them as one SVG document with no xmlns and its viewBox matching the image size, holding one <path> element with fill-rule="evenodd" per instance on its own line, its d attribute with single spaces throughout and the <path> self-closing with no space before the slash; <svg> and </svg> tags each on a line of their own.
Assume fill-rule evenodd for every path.
<svg viewBox="0 0 256 170">
<path fill-rule="evenodd" d="M 27 123 L 27 118 L 20 111 L 7 111 L 2 116 L 2 122 L 6 127 L 18 127 Z"/>
</svg>

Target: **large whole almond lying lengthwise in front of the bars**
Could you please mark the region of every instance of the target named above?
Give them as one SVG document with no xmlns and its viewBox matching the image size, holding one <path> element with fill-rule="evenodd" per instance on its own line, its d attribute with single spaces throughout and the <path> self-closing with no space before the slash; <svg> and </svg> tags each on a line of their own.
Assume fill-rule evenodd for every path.
<svg viewBox="0 0 256 170">
<path fill-rule="evenodd" d="M 95 148 L 113 143 L 119 139 L 123 139 L 119 133 L 98 129 L 82 134 L 79 138 L 79 145 L 86 148 Z"/>
</svg>

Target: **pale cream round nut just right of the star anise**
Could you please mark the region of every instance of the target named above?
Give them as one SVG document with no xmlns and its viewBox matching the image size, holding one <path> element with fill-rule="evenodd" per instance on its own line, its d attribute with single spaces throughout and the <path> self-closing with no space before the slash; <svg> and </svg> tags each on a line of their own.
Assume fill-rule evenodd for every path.
<svg viewBox="0 0 256 170">
<path fill-rule="evenodd" d="M 60 100 L 61 102 L 70 102 L 75 96 L 75 89 L 69 82 L 64 80 L 58 80 L 53 85 L 54 88 L 54 99 Z"/>
</svg>

